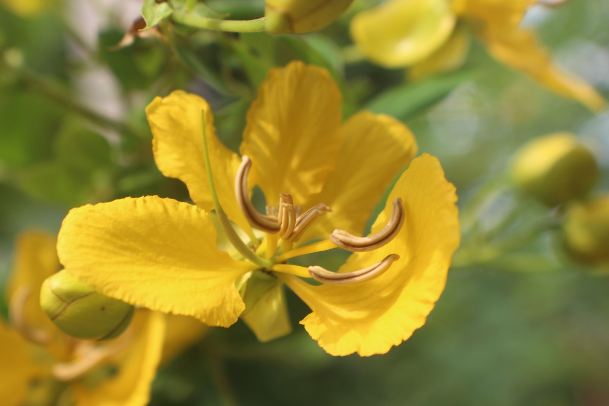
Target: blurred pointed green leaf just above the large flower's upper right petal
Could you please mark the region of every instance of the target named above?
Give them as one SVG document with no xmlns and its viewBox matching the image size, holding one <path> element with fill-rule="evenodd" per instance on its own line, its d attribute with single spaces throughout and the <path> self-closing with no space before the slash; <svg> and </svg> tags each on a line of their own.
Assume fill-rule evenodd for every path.
<svg viewBox="0 0 609 406">
<path fill-rule="evenodd" d="M 461 83 L 471 80 L 474 74 L 474 71 L 456 71 L 389 88 L 364 108 L 405 120 L 442 100 Z"/>
</svg>

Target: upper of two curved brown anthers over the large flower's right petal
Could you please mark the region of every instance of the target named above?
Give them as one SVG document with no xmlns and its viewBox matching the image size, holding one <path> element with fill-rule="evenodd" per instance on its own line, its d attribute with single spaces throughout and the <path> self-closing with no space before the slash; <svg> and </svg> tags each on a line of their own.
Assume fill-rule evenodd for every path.
<svg viewBox="0 0 609 406">
<path fill-rule="evenodd" d="M 376 234 L 368 237 L 356 237 L 342 229 L 335 229 L 330 235 L 330 240 L 338 247 L 348 251 L 371 251 L 382 247 L 400 232 L 404 224 L 404 206 L 402 199 L 393 200 L 393 211 L 387 225 Z"/>
</svg>

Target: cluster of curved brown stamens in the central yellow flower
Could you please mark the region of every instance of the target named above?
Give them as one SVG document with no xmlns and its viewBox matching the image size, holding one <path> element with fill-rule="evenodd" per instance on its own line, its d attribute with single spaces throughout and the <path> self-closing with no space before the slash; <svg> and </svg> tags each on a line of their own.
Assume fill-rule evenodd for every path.
<svg viewBox="0 0 609 406">
<path fill-rule="evenodd" d="M 300 206 L 294 206 L 292 196 L 289 194 L 281 194 L 279 205 L 277 207 L 267 206 L 266 214 L 262 214 L 254 207 L 252 201 L 248 197 L 247 176 L 251 167 L 252 159 L 248 156 L 243 156 L 241 159 L 241 166 L 239 166 L 235 178 L 235 195 L 239 207 L 250 225 L 252 225 L 253 228 L 267 233 L 266 256 L 269 258 L 272 257 L 273 262 L 275 262 L 275 265 L 270 267 L 271 270 L 314 278 L 323 283 L 355 284 L 376 278 L 376 276 L 384 273 L 394 261 L 397 261 L 400 258 L 397 254 L 390 254 L 382 259 L 382 261 L 371 265 L 370 267 L 345 273 L 336 273 L 314 265 L 306 269 L 308 275 L 302 273 L 298 269 L 302 267 L 284 264 L 289 258 L 332 248 L 342 248 L 343 250 L 351 252 L 360 252 L 376 250 L 377 248 L 382 247 L 395 238 L 404 223 L 404 206 L 402 200 L 401 198 L 396 198 L 393 201 L 393 211 L 389 222 L 387 222 L 387 225 L 385 225 L 379 233 L 372 234 L 368 237 L 357 237 L 342 229 L 335 229 L 333 233 L 330 234 L 328 240 L 312 243 L 292 250 L 292 244 L 298 242 L 298 240 L 303 237 L 307 229 L 314 223 L 315 219 L 332 210 L 324 203 L 319 203 L 300 214 Z M 284 241 L 283 253 L 280 255 L 275 254 L 277 237 Z"/>
</svg>

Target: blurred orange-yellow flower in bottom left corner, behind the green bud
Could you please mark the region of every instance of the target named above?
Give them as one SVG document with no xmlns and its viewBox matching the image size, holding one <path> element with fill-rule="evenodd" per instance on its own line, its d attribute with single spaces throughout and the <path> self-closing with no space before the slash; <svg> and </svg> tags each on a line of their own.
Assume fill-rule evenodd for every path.
<svg viewBox="0 0 609 406">
<path fill-rule="evenodd" d="M 138 309 L 121 337 L 103 343 L 68 337 L 37 304 L 44 279 L 59 269 L 53 237 L 32 231 L 19 238 L 7 292 L 12 325 L 0 321 L 2 404 L 147 404 L 165 316 Z"/>
</svg>

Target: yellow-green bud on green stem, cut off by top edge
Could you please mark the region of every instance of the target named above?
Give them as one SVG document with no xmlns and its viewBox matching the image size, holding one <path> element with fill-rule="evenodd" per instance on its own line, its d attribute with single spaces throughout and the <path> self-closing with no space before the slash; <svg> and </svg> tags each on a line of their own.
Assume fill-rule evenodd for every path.
<svg viewBox="0 0 609 406">
<path fill-rule="evenodd" d="M 302 34 L 322 29 L 347 10 L 353 0 L 267 0 L 265 23 L 273 34 Z"/>
</svg>

